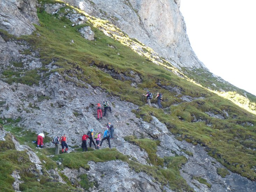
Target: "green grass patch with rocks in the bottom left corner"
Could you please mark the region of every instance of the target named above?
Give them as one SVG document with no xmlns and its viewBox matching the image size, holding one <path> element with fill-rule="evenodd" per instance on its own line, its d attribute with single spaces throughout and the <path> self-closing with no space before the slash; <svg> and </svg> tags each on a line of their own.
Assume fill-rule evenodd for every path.
<svg viewBox="0 0 256 192">
<path fill-rule="evenodd" d="M 0 191 L 14 191 L 14 178 L 11 176 L 14 171 L 21 177 L 20 191 L 78 191 L 74 187 L 54 181 L 45 171 L 43 175 L 39 174 L 27 151 L 15 150 L 10 134 L 5 136 L 5 140 L 0 141 Z"/>
</svg>

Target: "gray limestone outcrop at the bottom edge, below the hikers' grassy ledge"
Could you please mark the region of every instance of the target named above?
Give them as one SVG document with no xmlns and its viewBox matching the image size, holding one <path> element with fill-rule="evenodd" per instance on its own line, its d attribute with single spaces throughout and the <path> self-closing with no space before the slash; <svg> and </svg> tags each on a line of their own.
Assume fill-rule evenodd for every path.
<svg viewBox="0 0 256 192">
<path fill-rule="evenodd" d="M 161 184 L 153 177 L 143 172 L 136 173 L 129 168 L 126 162 L 116 160 L 103 163 L 89 162 L 88 164 L 90 170 L 87 174 L 94 177 L 104 191 L 162 191 Z"/>
</svg>

